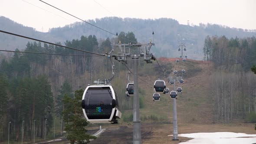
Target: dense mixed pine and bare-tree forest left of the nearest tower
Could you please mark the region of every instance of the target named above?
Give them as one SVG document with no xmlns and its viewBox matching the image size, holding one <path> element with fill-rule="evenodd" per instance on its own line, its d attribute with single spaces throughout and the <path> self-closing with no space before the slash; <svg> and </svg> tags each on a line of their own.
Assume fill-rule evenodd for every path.
<svg viewBox="0 0 256 144">
<path fill-rule="evenodd" d="M 133 33 L 121 32 L 124 38 L 135 40 Z M 120 39 L 121 42 L 123 39 Z M 81 36 L 79 39 L 66 40 L 65 45 L 89 52 L 110 52 L 112 43 L 104 39 L 100 43 L 95 35 Z M 92 56 L 84 52 L 77 52 L 59 46 L 45 43 L 27 42 L 21 47 L 25 52 L 47 52 L 74 54 L 79 56 L 56 56 L 31 53 L 6 52 L 0 54 L 0 141 L 6 140 L 8 123 L 11 138 L 20 141 L 22 121 L 24 122 L 25 139 L 32 138 L 32 124 L 35 122 L 37 138 L 43 138 L 53 131 L 53 121 L 62 117 L 65 110 L 63 97 L 73 98 L 75 90 L 84 90 L 88 83 L 97 79 L 106 79 L 111 76 L 111 62 L 102 56 Z M 20 49 L 16 49 L 20 51 Z M 123 85 L 125 77 L 122 65 L 117 65 L 118 73 L 112 85 Z M 122 75 L 121 77 L 119 75 Z M 116 90 L 119 100 L 124 101 L 121 95 L 123 88 Z M 129 105 L 129 104 L 126 104 Z M 124 108 L 125 105 L 121 104 Z M 66 118 L 66 117 L 65 117 Z M 64 120 L 66 120 L 64 118 Z M 44 127 L 47 119 L 46 129 Z M 64 125 L 64 124 L 63 124 Z M 47 135 L 46 134 L 46 135 Z"/>
</svg>

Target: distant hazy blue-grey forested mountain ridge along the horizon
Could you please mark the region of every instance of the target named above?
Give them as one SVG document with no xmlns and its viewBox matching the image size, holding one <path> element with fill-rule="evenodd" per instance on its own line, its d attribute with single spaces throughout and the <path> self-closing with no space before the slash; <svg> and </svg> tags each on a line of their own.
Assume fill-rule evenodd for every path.
<svg viewBox="0 0 256 144">
<path fill-rule="evenodd" d="M 203 43 L 204 38 L 209 36 L 231 37 L 251 37 L 255 36 L 255 30 L 236 29 L 217 24 L 200 24 L 200 26 L 181 25 L 177 20 L 161 18 L 161 19 L 135 19 L 135 18 L 118 18 L 105 17 L 102 19 L 88 20 L 102 29 L 107 29 L 111 33 L 133 32 L 138 42 L 147 43 L 149 39 L 153 39 L 152 31 L 154 31 L 154 43 L 156 43 L 152 52 L 156 56 L 173 57 L 178 56 L 177 46 L 181 39 L 185 39 L 187 52 L 190 59 L 203 59 Z M 72 23 L 70 25 L 53 28 L 49 33 L 36 32 L 32 28 L 24 27 L 5 17 L 0 17 L 0 29 L 13 33 L 20 33 L 26 36 L 32 36 L 55 42 L 65 42 L 67 39 L 79 39 L 80 36 L 95 35 L 98 40 L 109 37 L 112 42 L 116 42 L 115 36 L 97 29 L 86 23 Z M 180 34 L 179 36 L 177 34 Z M 0 34 L 0 47 L 3 49 L 16 49 L 26 45 L 26 40 Z M 193 43 L 193 45 L 192 45 Z"/>
</svg>

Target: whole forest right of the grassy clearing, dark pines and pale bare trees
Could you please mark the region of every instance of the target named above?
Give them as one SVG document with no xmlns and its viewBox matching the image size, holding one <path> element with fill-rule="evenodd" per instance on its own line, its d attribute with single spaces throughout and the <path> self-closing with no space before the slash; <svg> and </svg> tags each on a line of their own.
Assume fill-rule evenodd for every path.
<svg viewBox="0 0 256 144">
<path fill-rule="evenodd" d="M 256 75 L 250 67 L 256 64 L 256 38 L 207 36 L 204 60 L 212 61 L 214 114 L 217 120 L 230 122 L 247 118 L 255 122 Z"/>
</svg>

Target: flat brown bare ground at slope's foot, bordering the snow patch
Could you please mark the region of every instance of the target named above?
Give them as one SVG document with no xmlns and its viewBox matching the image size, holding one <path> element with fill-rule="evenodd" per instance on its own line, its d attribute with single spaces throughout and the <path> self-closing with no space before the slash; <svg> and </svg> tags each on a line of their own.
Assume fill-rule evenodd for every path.
<svg viewBox="0 0 256 144">
<path fill-rule="evenodd" d="M 196 132 L 241 132 L 255 134 L 254 124 L 178 124 L 179 134 Z M 143 144 L 178 144 L 190 140 L 179 137 L 172 141 L 172 124 L 142 123 L 141 137 Z M 132 125 L 111 127 L 90 144 L 132 144 Z"/>
</svg>

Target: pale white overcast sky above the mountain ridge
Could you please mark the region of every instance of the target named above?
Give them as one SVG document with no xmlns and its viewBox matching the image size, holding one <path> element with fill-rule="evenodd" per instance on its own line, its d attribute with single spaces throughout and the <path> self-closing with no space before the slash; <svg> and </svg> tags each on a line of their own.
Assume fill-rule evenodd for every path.
<svg viewBox="0 0 256 144">
<path fill-rule="evenodd" d="M 190 24 L 194 25 L 217 23 L 242 29 L 256 29 L 256 0 L 43 1 L 84 20 L 105 16 L 142 19 L 167 17 L 181 24 L 187 24 L 189 20 Z M 79 21 L 39 0 L 0 0 L 0 16 L 43 32 L 47 32 L 49 28 Z"/>
</svg>

